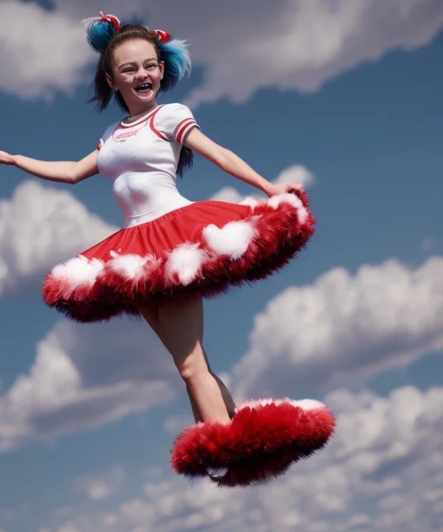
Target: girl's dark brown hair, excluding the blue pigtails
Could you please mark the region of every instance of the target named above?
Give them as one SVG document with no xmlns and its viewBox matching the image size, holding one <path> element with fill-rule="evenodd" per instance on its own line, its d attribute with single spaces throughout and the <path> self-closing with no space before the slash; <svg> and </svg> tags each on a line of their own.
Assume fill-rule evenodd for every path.
<svg viewBox="0 0 443 532">
<path fill-rule="evenodd" d="M 114 35 L 107 45 L 105 51 L 100 54 L 100 59 L 98 60 L 96 74 L 92 84 L 94 96 L 89 102 L 95 102 L 96 109 L 99 112 L 102 112 L 108 107 L 113 94 L 119 107 L 123 109 L 123 111 L 129 112 L 129 108 L 120 92 L 117 91 L 114 93 L 111 87 L 109 87 L 106 75 L 108 74 L 109 76 L 112 76 L 112 60 L 116 48 L 118 48 L 120 44 L 138 39 L 150 42 L 154 46 L 157 60 L 159 62 L 162 60 L 165 61 L 165 59 L 162 58 L 161 49 L 159 48 L 159 35 L 156 32 L 148 30 L 145 26 L 138 24 L 125 24 L 124 26 L 121 26 L 118 33 Z M 162 90 L 162 88 L 163 90 L 167 90 L 167 86 L 162 87 L 163 81 L 168 85 L 168 80 L 163 78 L 160 82 L 160 90 Z M 192 167 L 193 159 L 194 155 L 192 154 L 192 150 L 183 145 L 180 152 L 179 163 L 177 165 L 177 175 L 183 177 L 184 170 Z"/>
</svg>

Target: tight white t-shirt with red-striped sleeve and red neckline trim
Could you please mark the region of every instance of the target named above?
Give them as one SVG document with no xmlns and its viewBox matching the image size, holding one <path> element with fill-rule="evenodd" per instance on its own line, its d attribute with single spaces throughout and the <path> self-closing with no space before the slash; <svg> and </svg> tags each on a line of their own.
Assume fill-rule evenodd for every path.
<svg viewBox="0 0 443 532">
<path fill-rule="evenodd" d="M 192 203 L 177 190 L 177 164 L 186 135 L 196 126 L 186 105 L 170 103 L 107 128 L 98 143 L 98 170 L 114 180 L 124 227 Z"/>
</svg>

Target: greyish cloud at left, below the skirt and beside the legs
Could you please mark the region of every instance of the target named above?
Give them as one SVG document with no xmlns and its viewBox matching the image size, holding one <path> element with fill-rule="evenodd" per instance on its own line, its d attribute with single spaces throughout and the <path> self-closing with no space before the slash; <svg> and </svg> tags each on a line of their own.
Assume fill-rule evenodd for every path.
<svg viewBox="0 0 443 532">
<path fill-rule="evenodd" d="M 0 451 L 114 423 L 182 391 L 170 355 L 144 322 L 60 321 L 33 366 L 0 396 Z"/>
</svg>

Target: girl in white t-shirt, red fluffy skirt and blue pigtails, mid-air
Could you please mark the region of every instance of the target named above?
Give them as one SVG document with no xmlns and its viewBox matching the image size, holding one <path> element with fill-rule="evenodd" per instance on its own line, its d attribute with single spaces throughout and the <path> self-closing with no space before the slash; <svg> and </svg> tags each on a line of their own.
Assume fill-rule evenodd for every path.
<svg viewBox="0 0 443 532">
<path fill-rule="evenodd" d="M 262 400 L 235 407 L 203 347 L 204 296 L 275 272 L 314 232 L 307 197 L 296 183 L 271 184 L 205 136 L 188 107 L 159 105 L 190 71 L 186 42 L 113 15 L 84 21 L 100 53 L 93 101 L 114 94 L 127 117 L 110 125 L 78 162 L 46 162 L 0 152 L 42 179 L 75 184 L 98 172 L 114 181 L 123 229 L 56 265 L 44 281 L 46 304 L 82 322 L 142 316 L 170 351 L 186 383 L 196 424 L 174 442 L 172 465 L 226 486 L 278 475 L 325 445 L 334 418 L 311 400 Z M 197 152 L 270 199 L 243 204 L 191 202 L 177 175 Z M 214 469 L 224 469 L 218 476 Z M 212 472 L 211 472 L 212 471 Z"/>
</svg>

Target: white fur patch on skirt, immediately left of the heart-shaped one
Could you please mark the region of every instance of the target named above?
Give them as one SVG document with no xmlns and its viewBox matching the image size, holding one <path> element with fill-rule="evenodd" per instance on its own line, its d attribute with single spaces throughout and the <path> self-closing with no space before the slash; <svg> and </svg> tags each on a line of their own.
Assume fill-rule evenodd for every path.
<svg viewBox="0 0 443 532">
<path fill-rule="evenodd" d="M 181 244 L 169 254 L 165 265 L 166 275 L 172 278 L 177 274 L 182 285 L 189 285 L 194 281 L 206 258 L 208 252 L 199 249 L 198 244 Z"/>
</svg>

